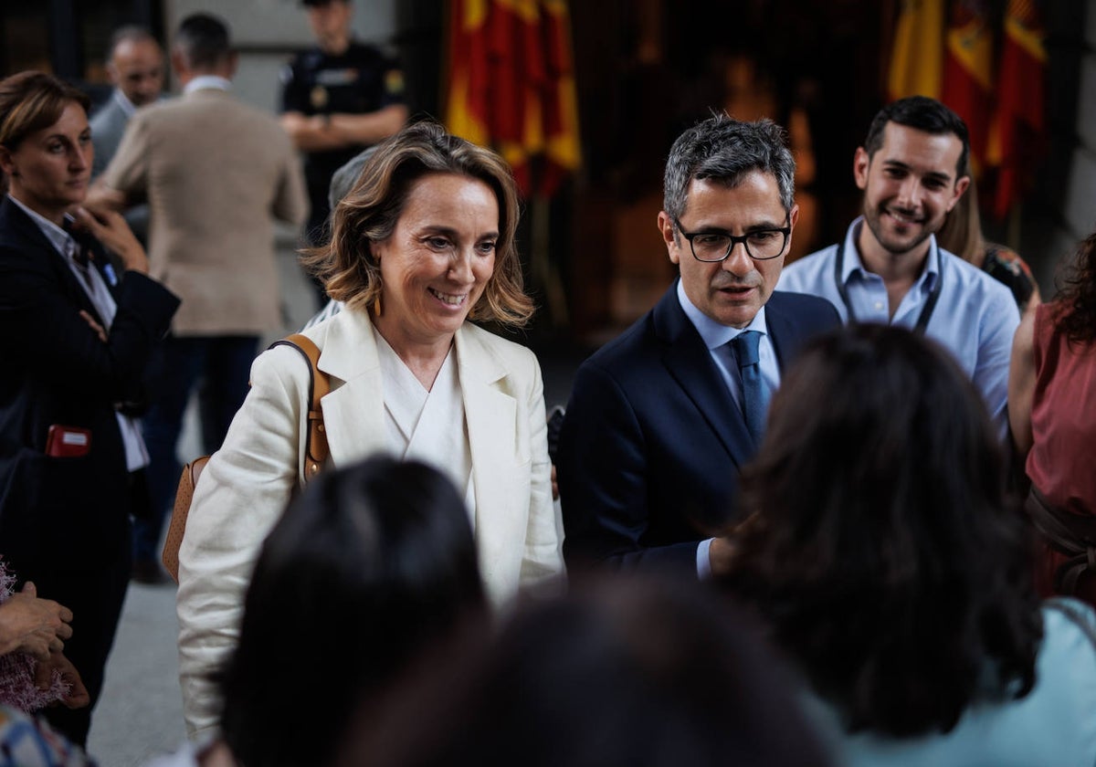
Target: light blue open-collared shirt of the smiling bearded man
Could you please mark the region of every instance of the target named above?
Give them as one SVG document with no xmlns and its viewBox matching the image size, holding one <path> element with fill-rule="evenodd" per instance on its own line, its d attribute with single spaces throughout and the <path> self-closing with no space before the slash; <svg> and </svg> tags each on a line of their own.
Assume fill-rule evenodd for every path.
<svg viewBox="0 0 1096 767">
<path fill-rule="evenodd" d="M 939 285 L 939 299 L 933 309 L 926 337 L 951 352 L 959 366 L 982 392 L 990 415 L 1002 439 L 1008 433 L 1008 362 L 1013 335 L 1020 322 L 1019 310 L 1008 288 L 982 270 L 936 245 L 929 237 L 928 259 L 917 282 L 902 298 L 890 317 L 887 286 L 882 277 L 869 272 L 860 260 L 856 239 L 864 218 L 857 218 L 845 233 L 843 248 L 830 245 L 789 264 L 777 288 L 808 293 L 829 299 L 842 321 L 848 322 L 848 307 L 842 298 L 835 274 L 838 250 L 842 251 L 840 279 L 845 287 L 853 314 L 858 322 L 913 328 L 933 289 Z"/>
</svg>

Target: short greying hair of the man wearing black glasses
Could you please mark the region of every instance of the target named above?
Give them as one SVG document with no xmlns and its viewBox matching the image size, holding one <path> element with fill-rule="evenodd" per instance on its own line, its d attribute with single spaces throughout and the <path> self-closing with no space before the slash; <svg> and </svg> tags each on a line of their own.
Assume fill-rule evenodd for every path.
<svg viewBox="0 0 1096 767">
<path fill-rule="evenodd" d="M 670 149 L 662 209 L 680 219 L 694 179 L 712 179 L 733 187 L 753 171 L 775 176 L 784 209 L 791 210 L 796 160 L 784 128 L 770 119 L 745 123 L 726 114 L 700 121 L 682 133 Z"/>
</svg>

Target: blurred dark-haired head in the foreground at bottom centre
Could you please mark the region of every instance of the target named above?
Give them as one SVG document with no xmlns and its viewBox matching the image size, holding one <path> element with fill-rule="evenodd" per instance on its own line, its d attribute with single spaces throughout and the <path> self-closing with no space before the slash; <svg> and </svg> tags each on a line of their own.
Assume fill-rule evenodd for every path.
<svg viewBox="0 0 1096 767">
<path fill-rule="evenodd" d="M 600 574 L 364 707 L 339 764 L 831 764 L 753 621 L 705 584 Z"/>
</svg>

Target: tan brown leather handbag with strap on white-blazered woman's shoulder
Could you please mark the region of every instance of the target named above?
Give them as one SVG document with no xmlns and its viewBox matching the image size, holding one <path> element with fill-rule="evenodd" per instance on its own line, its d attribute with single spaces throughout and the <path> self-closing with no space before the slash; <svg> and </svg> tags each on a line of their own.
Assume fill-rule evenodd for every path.
<svg viewBox="0 0 1096 767">
<path fill-rule="evenodd" d="M 331 390 L 331 381 L 316 367 L 316 363 L 320 358 L 320 350 L 308 336 L 294 333 L 281 341 L 275 341 L 270 345 L 270 348 L 274 346 L 292 346 L 308 360 L 308 435 L 305 438 L 305 481 L 307 482 L 320 472 L 320 469 L 323 468 L 323 461 L 328 458 L 328 436 L 323 431 L 323 411 L 320 408 L 320 400 Z M 163 554 L 160 558 L 168 574 L 175 583 L 179 583 L 179 547 L 186 533 L 186 517 L 191 512 L 191 501 L 194 499 L 194 489 L 198 484 L 202 470 L 208 462 L 209 456 L 195 458 L 183 467 L 183 473 L 179 478 L 175 505 L 171 510 L 171 522 L 168 524 Z"/>
</svg>

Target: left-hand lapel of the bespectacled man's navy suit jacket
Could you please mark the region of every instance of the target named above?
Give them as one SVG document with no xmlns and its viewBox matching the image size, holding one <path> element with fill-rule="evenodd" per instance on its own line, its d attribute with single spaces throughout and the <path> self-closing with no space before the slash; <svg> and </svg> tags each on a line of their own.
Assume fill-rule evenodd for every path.
<svg viewBox="0 0 1096 767">
<path fill-rule="evenodd" d="M 677 301 L 676 281 L 654 307 L 654 327 L 670 376 L 696 405 L 731 460 L 742 466 L 754 453 L 753 437 L 711 353 Z M 682 438 L 688 439 L 688 435 L 683 434 Z"/>
</svg>

